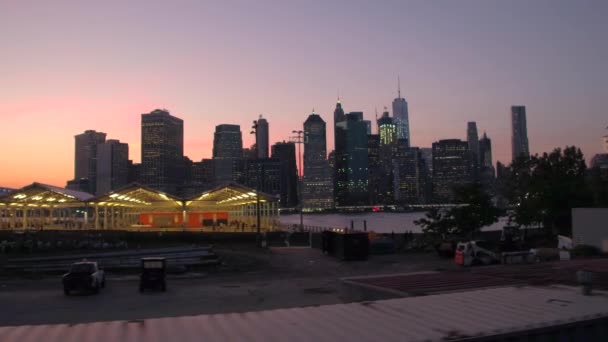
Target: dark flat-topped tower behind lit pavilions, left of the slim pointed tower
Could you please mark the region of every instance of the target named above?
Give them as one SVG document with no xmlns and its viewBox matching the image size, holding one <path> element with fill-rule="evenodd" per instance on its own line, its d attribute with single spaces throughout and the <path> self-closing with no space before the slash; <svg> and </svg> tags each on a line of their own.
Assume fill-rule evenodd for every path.
<svg viewBox="0 0 608 342">
<path fill-rule="evenodd" d="M 239 125 L 218 125 L 213 135 L 214 183 L 238 182 L 242 172 L 243 137 Z"/>
</svg>

